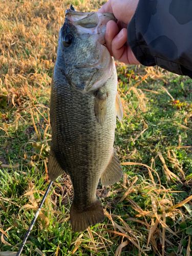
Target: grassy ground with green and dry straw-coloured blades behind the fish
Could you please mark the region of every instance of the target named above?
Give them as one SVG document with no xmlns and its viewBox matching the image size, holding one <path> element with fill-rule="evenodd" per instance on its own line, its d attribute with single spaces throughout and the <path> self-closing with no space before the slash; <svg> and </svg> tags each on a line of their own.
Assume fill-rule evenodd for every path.
<svg viewBox="0 0 192 256">
<path fill-rule="evenodd" d="M 71 2 L 81 11 L 104 3 L 0 0 L 0 255 L 15 255 L 48 186 L 50 82 Z M 105 221 L 72 232 L 73 191 L 64 175 L 54 182 L 25 255 L 190 255 L 191 79 L 122 63 L 117 71 L 124 118 L 115 148 L 124 176 L 98 186 Z"/>
</svg>

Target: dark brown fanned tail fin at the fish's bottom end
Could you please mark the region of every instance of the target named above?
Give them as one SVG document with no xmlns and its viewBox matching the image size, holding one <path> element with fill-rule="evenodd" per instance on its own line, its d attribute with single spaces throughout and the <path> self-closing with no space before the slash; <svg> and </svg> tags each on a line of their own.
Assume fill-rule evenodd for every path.
<svg viewBox="0 0 192 256">
<path fill-rule="evenodd" d="M 101 203 L 97 200 L 89 208 L 78 210 L 72 203 L 70 209 L 71 225 L 74 232 L 86 230 L 90 225 L 104 221 L 104 212 Z"/>
</svg>

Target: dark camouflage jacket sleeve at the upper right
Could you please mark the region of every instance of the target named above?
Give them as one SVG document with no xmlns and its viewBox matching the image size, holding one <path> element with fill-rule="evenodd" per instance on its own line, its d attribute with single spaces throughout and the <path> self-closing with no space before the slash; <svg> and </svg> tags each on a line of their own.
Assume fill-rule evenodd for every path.
<svg viewBox="0 0 192 256">
<path fill-rule="evenodd" d="M 192 78 L 191 0 L 140 0 L 127 38 L 142 65 Z"/>
</svg>

